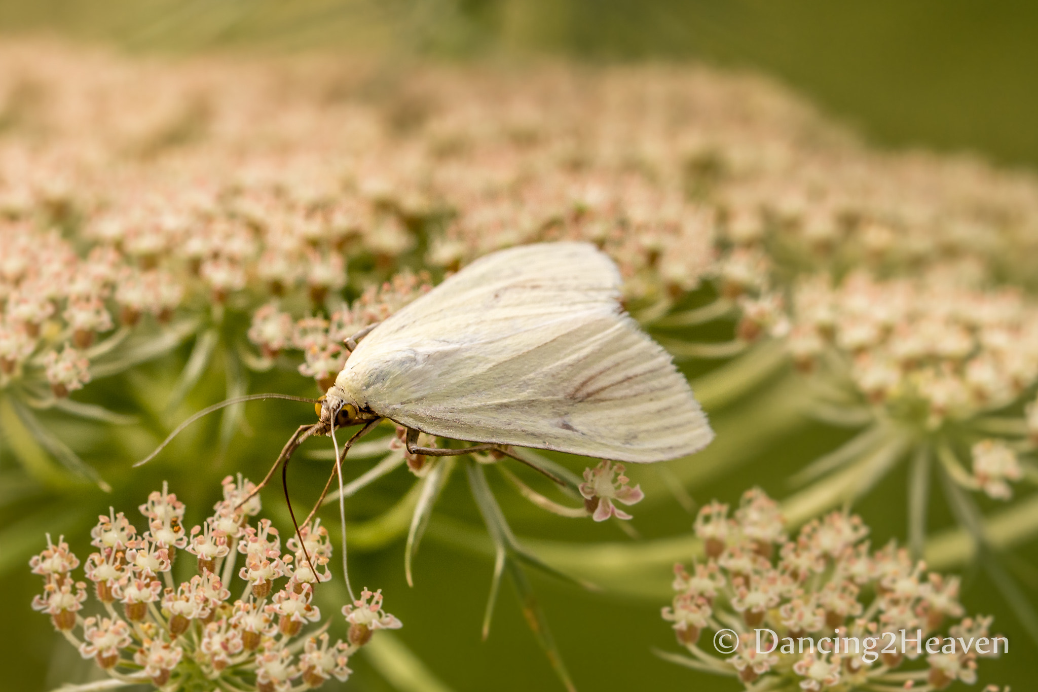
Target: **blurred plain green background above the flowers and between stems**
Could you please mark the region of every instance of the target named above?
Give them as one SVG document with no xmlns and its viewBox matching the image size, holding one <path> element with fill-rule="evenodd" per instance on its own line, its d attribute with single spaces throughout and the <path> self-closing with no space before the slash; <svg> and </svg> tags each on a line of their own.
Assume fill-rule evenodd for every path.
<svg viewBox="0 0 1038 692">
<path fill-rule="evenodd" d="M 35 0 L 0 4 L 0 29 L 11 34 L 56 33 L 145 53 L 331 48 L 374 52 L 405 63 L 425 59 L 523 61 L 544 56 L 586 61 L 707 60 L 771 75 L 878 145 L 967 150 L 1008 165 L 1038 164 L 1038 4 L 1033 2 Z M 185 348 L 155 361 L 144 368 L 144 379 L 98 383 L 88 389 L 89 397 L 112 409 L 134 410 L 135 399 L 146 396 L 149 388 L 171 386 L 188 353 Z M 256 378 L 251 389 L 312 394 L 300 391 L 300 380 L 293 373 Z M 218 400 L 222 393 L 223 378 L 217 371 L 193 393 L 185 410 Z M 737 406 L 754 407 L 755 399 L 748 397 Z M 726 419 L 740 420 L 745 412 L 712 413 L 722 426 Z M 248 419 L 255 434 L 239 436 L 225 458 L 211 450 L 190 468 L 174 465 L 170 460 L 176 455 L 169 454 L 143 471 L 131 471 L 127 462 L 139 452 L 134 440 L 124 440 L 117 451 L 99 442 L 84 458 L 115 478 L 116 509 L 128 515 L 135 514 L 146 494 L 168 478 L 171 490 L 188 503 L 190 526 L 215 501 L 223 475 L 240 470 L 252 478 L 261 476 L 281 442 L 311 415 L 304 405 L 250 405 Z M 218 421 L 206 424 L 215 426 Z M 75 435 L 75 431 L 65 432 Z M 742 464 L 741 472 L 732 473 L 735 469 L 729 468 L 703 474 L 691 492 L 700 502 L 713 497 L 732 502 L 747 487 L 761 485 L 782 497 L 788 493 L 788 474 L 831 448 L 841 435 L 808 423 L 787 428 L 778 438 L 759 433 L 759 444 L 747 445 L 741 456 L 731 461 L 733 466 Z M 89 443 L 85 446 L 90 447 Z M 0 460 L 0 464 L 9 463 Z M 293 480 L 301 501 L 317 495 L 310 489 L 323 480 L 324 472 L 324 464 L 298 463 Z M 640 478 L 635 476 L 635 480 Z M 404 478 L 389 478 L 374 493 L 362 495 L 352 510 L 367 515 L 385 506 L 405 487 Z M 111 498 L 85 493 L 76 501 L 106 511 Z M 276 493 L 268 494 L 266 504 L 267 516 L 283 528 L 286 518 Z M 448 518 L 479 524 L 459 477 L 447 488 L 440 506 Z M 874 545 L 891 536 L 903 537 L 904 507 L 904 478 L 899 472 L 859 507 L 873 528 Z M 67 509 L 54 506 L 54 521 L 59 522 Z M 509 509 L 523 536 L 623 538 L 612 527 L 588 523 L 572 527 L 562 521 L 539 521 L 530 510 Z M 635 526 L 648 537 L 674 534 L 691 522 L 672 501 L 646 509 L 636 513 Z M 947 514 L 941 506 L 933 511 Z M 9 514 L 0 519 L 8 541 L 15 536 L 42 546 L 43 527 L 20 526 L 19 518 Z M 510 587 L 502 593 L 490 640 L 480 641 L 491 560 L 460 548 L 462 542 L 452 535 L 450 526 L 445 520 L 433 520 L 413 589 L 404 581 L 401 539 L 383 550 L 356 552 L 356 583 L 385 589 L 387 609 L 406 624 L 402 639 L 454 689 L 487 689 L 490 681 L 499 690 L 561 689 L 513 607 Z M 79 527 L 73 539 L 81 557 L 86 550 L 79 536 L 86 529 Z M 1038 543 L 1032 542 L 1018 554 L 1033 554 L 1036 548 Z M 0 563 L 8 566 L 2 554 Z M 1038 592 L 1038 574 L 1033 568 L 1011 566 L 1029 593 Z M 982 683 L 1031 689 L 1038 648 L 986 577 L 971 566 L 963 578 L 967 610 L 994 614 L 996 629 L 1012 642 L 1008 656 L 982 662 Z M 659 579 L 665 586 L 668 573 L 664 570 Z M 589 594 L 540 576 L 535 580 L 579 689 L 741 689 L 733 681 L 709 679 L 652 656 L 651 646 L 673 648 L 670 628 L 659 618 L 665 593 L 657 599 L 618 599 Z M 50 689 L 67 679 L 66 673 L 86 665 L 55 638 L 46 617 L 28 612 L 24 594 L 34 592 L 36 582 L 20 564 L 5 569 L 0 577 L 5 594 L 0 627 L 4 682 L 0 687 L 5 690 Z M 347 689 L 389 689 L 359 659 L 355 668 L 357 673 Z"/>
</svg>

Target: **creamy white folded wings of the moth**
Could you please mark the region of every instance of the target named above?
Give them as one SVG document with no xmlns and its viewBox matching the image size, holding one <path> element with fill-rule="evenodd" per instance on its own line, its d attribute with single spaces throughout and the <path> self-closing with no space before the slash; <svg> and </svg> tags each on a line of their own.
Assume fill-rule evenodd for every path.
<svg viewBox="0 0 1038 692">
<path fill-rule="evenodd" d="M 625 462 L 703 448 L 713 433 L 687 381 L 619 298 L 592 245 L 502 250 L 379 325 L 336 382 L 445 438 Z"/>
</svg>

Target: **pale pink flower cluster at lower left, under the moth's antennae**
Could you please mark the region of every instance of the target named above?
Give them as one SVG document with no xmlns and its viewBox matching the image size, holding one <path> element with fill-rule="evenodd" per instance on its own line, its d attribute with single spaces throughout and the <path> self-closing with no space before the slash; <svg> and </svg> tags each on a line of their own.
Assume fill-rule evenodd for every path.
<svg viewBox="0 0 1038 692">
<path fill-rule="evenodd" d="M 373 632 L 401 622 L 382 610 L 381 591 L 364 589 L 343 608 L 345 641 L 330 642 L 329 622 L 306 633 L 321 620 L 313 589 L 331 579 L 328 531 L 320 522 L 307 525 L 302 542 L 290 538 L 290 552 L 282 553 L 270 521 L 253 523 L 260 499 L 244 501 L 253 489 L 241 477 L 225 478 L 224 499 L 190 531 L 181 524 L 184 503 L 165 486 L 140 506 L 143 532 L 111 510 L 90 531 L 97 552 L 83 564 L 85 581 L 74 577 L 80 560 L 63 537 L 55 545 L 48 536 L 47 549 L 30 562 L 44 578 L 33 609 L 49 614 L 84 659 L 128 684 L 274 692 L 345 681 L 350 656 Z M 198 570 L 177 584 L 172 566 L 185 552 L 197 558 Z M 243 588 L 231 600 L 236 577 Z M 85 612 L 87 582 L 94 614 Z"/>
</svg>

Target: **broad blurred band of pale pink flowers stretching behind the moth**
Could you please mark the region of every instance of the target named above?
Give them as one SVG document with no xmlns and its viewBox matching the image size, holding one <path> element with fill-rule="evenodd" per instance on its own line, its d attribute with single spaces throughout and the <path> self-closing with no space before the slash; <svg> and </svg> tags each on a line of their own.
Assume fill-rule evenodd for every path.
<svg viewBox="0 0 1038 692">
<path fill-rule="evenodd" d="M 36 368 L 56 394 L 90 377 L 98 334 L 214 307 L 252 319 L 251 364 L 302 351 L 324 384 L 343 334 L 428 283 L 405 270 L 534 241 L 603 247 L 646 319 L 709 280 L 737 299 L 747 340 L 790 331 L 791 276 L 863 272 L 809 280 L 797 302 L 867 285 L 925 303 L 937 287 L 868 277 L 949 262 L 981 283 L 1038 275 L 1030 177 L 873 153 L 754 78 L 427 67 L 373 89 L 384 73 L 342 59 L 144 64 L 38 43 L 6 45 L 0 64 L 22 135 L 0 143 L 0 370 Z M 881 345 L 862 342 L 868 326 L 814 320 L 792 329 L 804 358 L 830 337 Z"/>
</svg>

